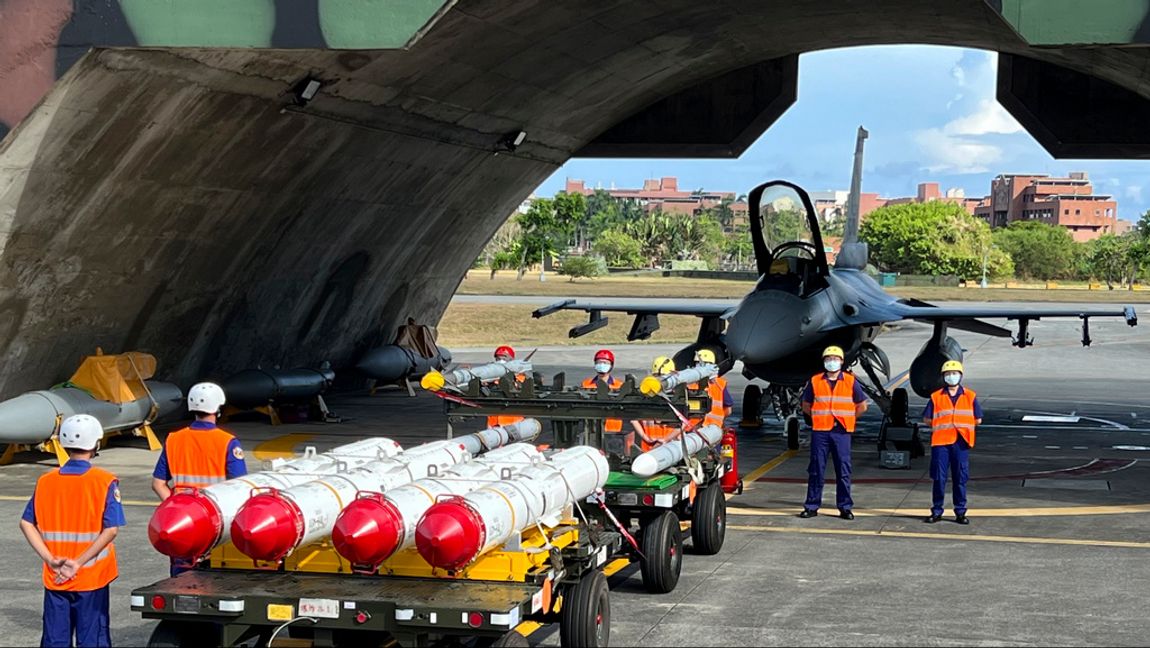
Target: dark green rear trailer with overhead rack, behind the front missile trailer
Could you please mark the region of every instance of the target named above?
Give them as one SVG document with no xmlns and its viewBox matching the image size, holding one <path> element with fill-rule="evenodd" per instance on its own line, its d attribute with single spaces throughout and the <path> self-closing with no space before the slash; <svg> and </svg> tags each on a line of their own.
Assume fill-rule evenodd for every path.
<svg viewBox="0 0 1150 648">
<path fill-rule="evenodd" d="M 673 405 L 688 418 L 699 418 L 711 409 L 706 384 L 698 390 L 676 387 L 662 397 L 639 392 L 635 378 L 627 375 L 615 391 L 599 383 L 596 389 L 567 389 L 557 374 L 550 387 L 538 373 L 519 383 L 511 376 L 482 384 L 473 380 L 458 398 L 444 398 L 448 434 L 454 425 L 488 416 L 523 416 L 550 419 L 557 448 L 592 445 L 606 452 L 611 477 L 601 496 L 586 500 L 588 514 L 601 528 L 618 529 L 627 540 L 614 558 L 638 562 L 643 584 L 651 593 L 672 592 L 682 570 L 683 533 L 690 525 L 696 554 L 714 555 L 722 549 L 727 531 L 727 500 L 720 483 L 730 460 L 714 448 L 704 448 L 688 462 L 651 478 L 630 472 L 639 452 L 631 441 L 630 420 L 680 424 Z M 623 434 L 604 432 L 605 419 L 623 419 Z M 682 436 L 680 436 L 682 439 Z M 634 525 L 634 526 L 632 526 Z M 637 527 L 637 528 L 635 528 Z"/>
</svg>

